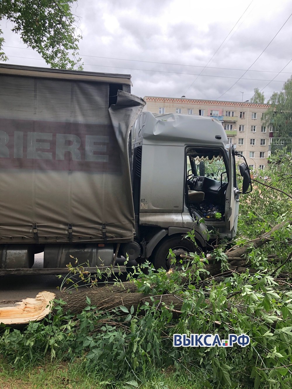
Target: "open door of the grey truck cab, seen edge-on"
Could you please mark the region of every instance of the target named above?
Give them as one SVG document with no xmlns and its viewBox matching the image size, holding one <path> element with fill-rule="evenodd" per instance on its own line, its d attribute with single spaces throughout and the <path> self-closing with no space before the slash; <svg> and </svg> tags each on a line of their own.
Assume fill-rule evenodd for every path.
<svg viewBox="0 0 292 389">
<path fill-rule="evenodd" d="M 233 145 L 230 144 L 229 150 L 229 182 L 225 195 L 225 221 L 227 230 L 231 233 L 231 238 L 236 234 L 238 208 L 239 208 L 239 191 L 236 185 L 236 167 L 234 159 Z"/>
</svg>

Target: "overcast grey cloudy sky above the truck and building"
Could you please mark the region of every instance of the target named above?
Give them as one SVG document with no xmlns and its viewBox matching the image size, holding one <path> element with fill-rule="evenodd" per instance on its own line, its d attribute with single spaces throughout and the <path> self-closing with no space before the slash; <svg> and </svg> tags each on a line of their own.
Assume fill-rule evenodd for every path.
<svg viewBox="0 0 292 389">
<path fill-rule="evenodd" d="M 79 0 L 72 11 L 84 70 L 131 74 L 137 96 L 245 101 L 276 76 L 267 100 L 292 74 L 291 0 Z M 9 63 L 47 66 L 1 26 Z"/>
</svg>

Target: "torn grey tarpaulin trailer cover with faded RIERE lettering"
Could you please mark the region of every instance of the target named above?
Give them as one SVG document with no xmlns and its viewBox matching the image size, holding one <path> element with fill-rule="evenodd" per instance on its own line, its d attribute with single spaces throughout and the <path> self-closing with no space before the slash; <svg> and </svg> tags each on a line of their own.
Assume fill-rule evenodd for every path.
<svg viewBox="0 0 292 389">
<path fill-rule="evenodd" d="M 128 138 L 144 102 L 119 90 L 109 108 L 130 76 L 86 75 L 0 66 L 1 243 L 133 240 Z"/>
</svg>

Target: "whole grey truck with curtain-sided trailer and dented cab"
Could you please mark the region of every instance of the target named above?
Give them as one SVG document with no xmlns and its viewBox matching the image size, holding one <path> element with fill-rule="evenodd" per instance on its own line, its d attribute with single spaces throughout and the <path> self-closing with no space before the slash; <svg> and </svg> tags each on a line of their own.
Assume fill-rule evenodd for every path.
<svg viewBox="0 0 292 389">
<path fill-rule="evenodd" d="M 236 235 L 251 179 L 245 161 L 239 191 L 222 124 L 144 112 L 131 85 L 0 64 L 0 275 L 65 273 L 72 257 L 89 270 L 126 257 L 169 269 L 169 249 L 180 258 Z"/>
</svg>

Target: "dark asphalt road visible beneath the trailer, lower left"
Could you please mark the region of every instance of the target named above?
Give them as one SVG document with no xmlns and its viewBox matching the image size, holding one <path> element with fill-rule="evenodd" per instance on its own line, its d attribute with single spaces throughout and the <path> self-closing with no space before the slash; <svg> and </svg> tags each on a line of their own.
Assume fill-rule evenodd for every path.
<svg viewBox="0 0 292 389">
<path fill-rule="evenodd" d="M 33 268 L 43 267 L 43 253 L 35 254 Z M 135 261 L 133 261 L 134 265 Z M 120 263 L 122 265 L 122 263 Z M 122 276 L 125 280 L 126 276 Z M 5 300 L 23 300 L 28 297 L 35 297 L 41 291 L 60 293 L 62 279 L 55 275 L 26 275 L 26 276 L 5 276 L 0 277 L 0 305 Z M 100 286 L 103 284 L 100 284 Z M 80 290 L 80 289 L 79 289 Z"/>
</svg>

